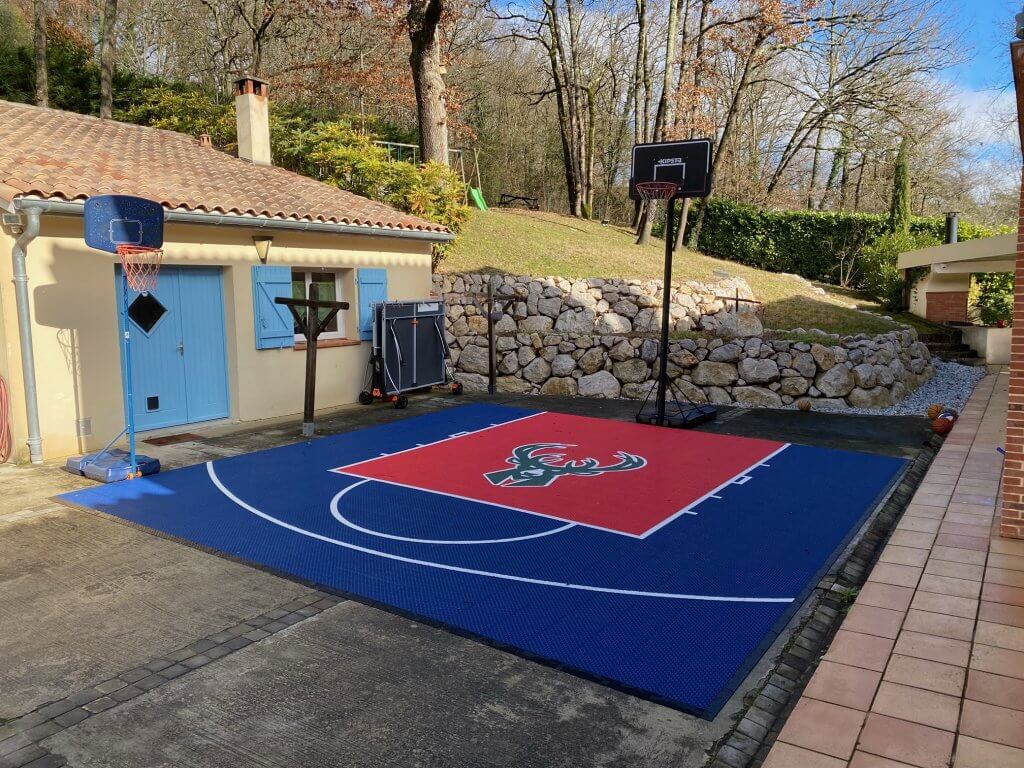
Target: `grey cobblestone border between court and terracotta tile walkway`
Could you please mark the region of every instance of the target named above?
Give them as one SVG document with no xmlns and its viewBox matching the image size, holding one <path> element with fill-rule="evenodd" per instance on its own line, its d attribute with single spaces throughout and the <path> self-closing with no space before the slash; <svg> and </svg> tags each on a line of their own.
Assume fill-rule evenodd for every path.
<svg viewBox="0 0 1024 768">
<path fill-rule="evenodd" d="M 709 751 L 707 768 L 758 768 L 768 757 L 786 718 L 843 623 L 849 607 L 844 596 L 867 581 L 871 565 L 941 444 L 941 438 L 932 438 L 867 523 L 835 579 L 818 585 L 817 603 L 810 615 L 794 633 L 774 670 L 748 696 L 748 708 L 738 716 L 736 725 Z"/>
</svg>

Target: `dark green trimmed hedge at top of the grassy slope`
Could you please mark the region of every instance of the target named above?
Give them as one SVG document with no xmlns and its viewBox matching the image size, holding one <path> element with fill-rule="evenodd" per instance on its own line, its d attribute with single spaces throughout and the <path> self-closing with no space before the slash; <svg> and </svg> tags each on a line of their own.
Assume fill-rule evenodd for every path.
<svg viewBox="0 0 1024 768">
<path fill-rule="evenodd" d="M 743 203 L 712 199 L 707 207 L 697 250 L 730 261 L 793 272 L 808 280 L 856 285 L 856 270 L 844 272 L 860 257 L 865 246 L 886 232 L 887 216 L 830 211 L 765 211 Z M 689 228 L 697 220 L 693 206 Z M 945 238 L 945 217 L 914 218 L 910 232 L 936 243 Z M 959 222 L 959 240 L 985 238 L 997 232 Z M 690 232 L 687 232 L 687 238 Z"/>
</svg>

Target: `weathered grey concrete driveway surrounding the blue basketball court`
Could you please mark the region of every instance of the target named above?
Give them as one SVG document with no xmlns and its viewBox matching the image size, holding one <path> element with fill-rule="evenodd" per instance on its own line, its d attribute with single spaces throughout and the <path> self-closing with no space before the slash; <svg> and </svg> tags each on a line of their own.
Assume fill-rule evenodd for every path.
<svg viewBox="0 0 1024 768">
<path fill-rule="evenodd" d="M 321 426 L 451 404 L 424 396 Z M 927 435 L 919 419 L 808 416 L 734 411 L 710 428 L 907 457 Z M 202 433 L 144 449 L 180 466 L 298 439 L 289 422 Z M 55 467 L 0 467 L 0 768 L 700 766 L 787 639 L 705 721 L 48 501 L 81 484 Z"/>
</svg>

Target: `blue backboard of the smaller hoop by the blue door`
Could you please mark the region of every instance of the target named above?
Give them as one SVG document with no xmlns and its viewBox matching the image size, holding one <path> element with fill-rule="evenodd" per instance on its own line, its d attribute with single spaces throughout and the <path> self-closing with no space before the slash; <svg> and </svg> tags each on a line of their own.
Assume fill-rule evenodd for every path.
<svg viewBox="0 0 1024 768">
<path fill-rule="evenodd" d="M 85 243 L 117 253 L 118 246 L 164 245 L 164 207 L 129 195 L 100 195 L 85 201 Z"/>
</svg>

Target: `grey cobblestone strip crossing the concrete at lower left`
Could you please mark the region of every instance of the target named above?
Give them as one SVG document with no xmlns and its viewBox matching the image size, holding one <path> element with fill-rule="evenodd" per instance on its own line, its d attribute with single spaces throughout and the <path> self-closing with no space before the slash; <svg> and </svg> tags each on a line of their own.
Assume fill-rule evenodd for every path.
<svg viewBox="0 0 1024 768">
<path fill-rule="evenodd" d="M 58 768 L 66 765 L 62 757 L 47 752 L 39 741 L 304 622 L 340 602 L 343 598 L 324 592 L 304 595 L 22 715 L 0 726 L 0 768 Z"/>
</svg>

